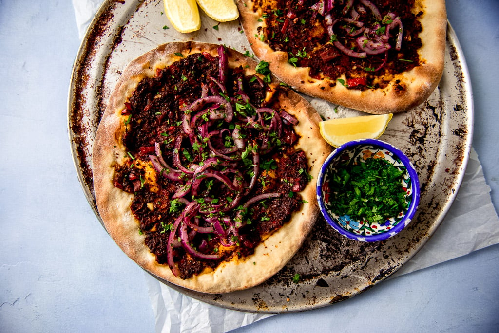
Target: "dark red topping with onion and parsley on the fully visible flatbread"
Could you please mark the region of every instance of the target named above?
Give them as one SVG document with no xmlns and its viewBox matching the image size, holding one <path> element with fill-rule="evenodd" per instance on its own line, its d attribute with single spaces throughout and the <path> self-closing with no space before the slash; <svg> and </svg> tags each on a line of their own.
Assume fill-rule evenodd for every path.
<svg viewBox="0 0 499 333">
<path fill-rule="evenodd" d="M 130 159 L 114 185 L 134 193 L 146 245 L 176 276 L 252 254 L 303 204 L 308 164 L 276 98 L 287 88 L 275 89 L 266 98 L 265 81 L 230 68 L 220 47 L 158 69 L 125 104 Z"/>
</svg>

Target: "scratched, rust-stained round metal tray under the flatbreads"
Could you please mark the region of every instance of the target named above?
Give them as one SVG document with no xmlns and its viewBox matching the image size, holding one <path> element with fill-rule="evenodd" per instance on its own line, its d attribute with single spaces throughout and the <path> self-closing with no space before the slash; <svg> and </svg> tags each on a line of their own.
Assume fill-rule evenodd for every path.
<svg viewBox="0 0 499 333">
<path fill-rule="evenodd" d="M 251 53 L 239 21 L 219 24 L 201 13 L 201 29 L 181 34 L 168 28 L 170 22 L 162 11 L 161 0 L 105 1 L 76 55 L 68 97 L 69 139 L 83 191 L 99 219 L 92 185 L 92 144 L 110 92 L 125 65 L 169 41 L 206 41 Z M 342 237 L 320 218 L 299 253 L 262 285 L 212 295 L 163 282 L 209 304 L 278 313 L 348 299 L 393 274 L 424 246 L 442 222 L 468 162 L 473 132 L 472 91 L 463 53 L 450 25 L 445 63 L 442 81 L 433 95 L 422 105 L 395 114 L 381 137 L 409 156 L 420 177 L 420 206 L 404 231 L 383 242 L 361 243 Z M 326 119 L 360 114 L 304 97 Z M 298 283 L 293 282 L 295 274 L 300 276 Z"/>
</svg>

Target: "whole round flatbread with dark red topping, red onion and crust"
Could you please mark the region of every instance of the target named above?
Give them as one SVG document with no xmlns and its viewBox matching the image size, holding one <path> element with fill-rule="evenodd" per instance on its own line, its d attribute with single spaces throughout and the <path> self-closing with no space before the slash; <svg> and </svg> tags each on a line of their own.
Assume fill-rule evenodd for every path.
<svg viewBox="0 0 499 333">
<path fill-rule="evenodd" d="M 258 285 L 318 215 L 330 146 L 320 116 L 266 66 L 221 45 L 174 42 L 133 60 L 99 124 L 93 179 L 111 237 L 178 286 Z"/>
</svg>

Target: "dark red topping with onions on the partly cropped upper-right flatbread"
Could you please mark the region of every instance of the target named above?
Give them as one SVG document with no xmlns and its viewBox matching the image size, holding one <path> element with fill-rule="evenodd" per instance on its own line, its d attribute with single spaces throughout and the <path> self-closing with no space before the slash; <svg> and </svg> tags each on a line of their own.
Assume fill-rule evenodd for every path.
<svg viewBox="0 0 499 333">
<path fill-rule="evenodd" d="M 260 1 L 254 1 L 259 3 Z M 264 1 L 265 27 L 259 38 L 288 61 L 309 67 L 310 76 L 335 82 L 365 81 L 350 89 L 384 88 L 384 75 L 402 73 L 419 65 L 422 42 L 414 0 L 274 0 Z M 261 3 L 258 4 L 261 6 Z M 336 83 L 334 83 L 336 84 Z"/>
</svg>

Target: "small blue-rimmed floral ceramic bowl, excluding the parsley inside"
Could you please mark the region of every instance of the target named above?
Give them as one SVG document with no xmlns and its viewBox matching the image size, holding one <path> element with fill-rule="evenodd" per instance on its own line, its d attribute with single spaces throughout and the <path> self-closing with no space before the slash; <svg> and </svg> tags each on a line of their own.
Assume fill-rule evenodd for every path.
<svg viewBox="0 0 499 333">
<path fill-rule="evenodd" d="M 358 221 L 348 215 L 338 215 L 331 211 L 329 201 L 331 191 L 329 181 L 331 176 L 341 167 L 340 162 L 370 157 L 384 159 L 403 171 L 401 186 L 405 191 L 406 207 L 397 216 L 381 222 Z M 404 229 L 416 213 L 419 204 L 419 179 L 414 166 L 399 149 L 381 140 L 354 140 L 341 145 L 326 159 L 319 171 L 317 179 L 317 201 L 326 219 L 340 234 L 363 242 L 376 242 L 396 235 Z"/>
</svg>

